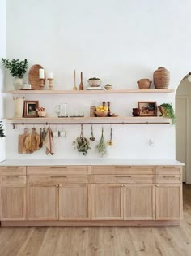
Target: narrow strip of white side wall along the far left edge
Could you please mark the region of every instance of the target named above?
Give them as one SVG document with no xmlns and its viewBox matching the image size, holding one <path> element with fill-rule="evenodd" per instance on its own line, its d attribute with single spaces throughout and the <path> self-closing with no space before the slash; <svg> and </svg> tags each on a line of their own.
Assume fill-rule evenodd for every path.
<svg viewBox="0 0 191 256">
<path fill-rule="evenodd" d="M 0 58 L 6 57 L 6 0 L 0 1 L 0 33 L 1 33 L 1 41 L 0 41 Z M 4 99 L 5 95 L 3 93 L 3 85 L 4 85 L 4 72 L 2 71 L 2 64 L 0 64 L 0 119 L 5 117 L 4 114 Z M 3 127 L 5 128 L 4 123 Z M 2 162 L 6 158 L 6 139 L 0 138 L 0 162 Z"/>
</svg>

